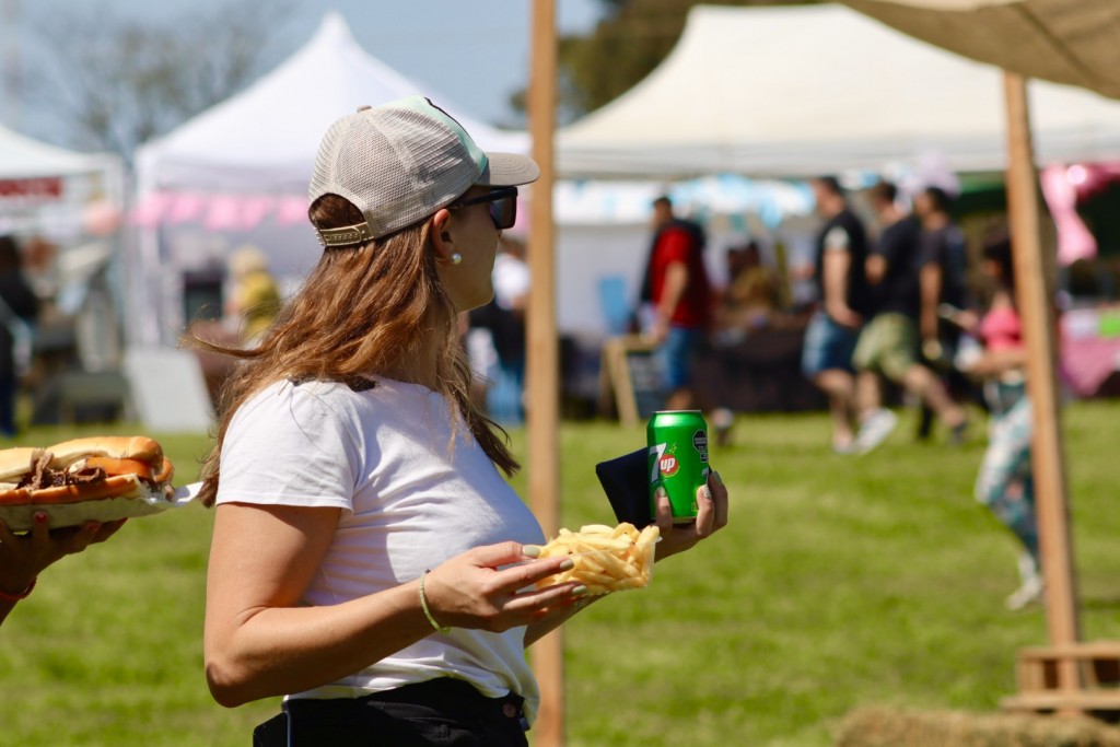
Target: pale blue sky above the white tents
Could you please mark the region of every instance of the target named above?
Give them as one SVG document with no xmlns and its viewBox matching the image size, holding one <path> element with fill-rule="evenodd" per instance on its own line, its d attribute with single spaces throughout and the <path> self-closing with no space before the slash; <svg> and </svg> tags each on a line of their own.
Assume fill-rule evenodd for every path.
<svg viewBox="0 0 1120 747">
<path fill-rule="evenodd" d="M 11 0 L 8 0 L 9 3 Z M 44 22 L 67 8 L 101 7 L 114 17 L 177 18 L 192 9 L 202 12 L 228 7 L 236 0 L 18 0 L 22 26 Z M 465 112 L 492 123 L 508 123 L 510 94 L 524 86 L 530 63 L 532 0 L 292 0 L 284 17 L 262 19 L 272 43 L 264 69 L 270 69 L 306 43 L 324 15 L 343 15 L 362 47 L 401 74 L 431 84 Z M 594 28 L 597 0 L 556 0 L 561 31 Z M 11 29 L 4 29 L 10 34 Z M 0 43 L 4 34 L 0 34 Z M 22 30 L 21 47 L 32 37 Z M 34 50 L 25 49 L 25 59 Z M 28 62 L 24 63 L 25 66 Z M 40 112 L 19 112 L 21 129 L 32 129 Z M 9 121 L 7 112 L 4 120 Z"/>
</svg>

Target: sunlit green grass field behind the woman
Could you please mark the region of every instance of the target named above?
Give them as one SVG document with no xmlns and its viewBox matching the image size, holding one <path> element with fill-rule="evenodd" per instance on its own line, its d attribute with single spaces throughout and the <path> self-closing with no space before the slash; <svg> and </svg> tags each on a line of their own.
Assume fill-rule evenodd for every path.
<svg viewBox="0 0 1120 747">
<path fill-rule="evenodd" d="M 1085 639 L 1120 638 L 1118 422 L 1120 402 L 1065 418 Z M 1015 548 L 971 497 L 982 429 L 960 449 L 913 430 L 904 417 L 880 450 L 846 458 L 827 449 L 822 414 L 741 417 L 736 445 L 712 454 L 730 526 L 566 627 L 568 744 L 824 747 L 861 706 L 997 709 L 1015 652 L 1046 642 L 1044 616 L 1002 608 Z M 563 523 L 612 521 L 591 467 L 643 431 L 561 436 Z M 204 439 L 161 440 L 190 482 Z M 226 710 L 207 693 L 211 522 L 198 506 L 137 519 L 44 573 L 0 629 L 0 744 L 250 744 L 278 701 Z"/>
</svg>

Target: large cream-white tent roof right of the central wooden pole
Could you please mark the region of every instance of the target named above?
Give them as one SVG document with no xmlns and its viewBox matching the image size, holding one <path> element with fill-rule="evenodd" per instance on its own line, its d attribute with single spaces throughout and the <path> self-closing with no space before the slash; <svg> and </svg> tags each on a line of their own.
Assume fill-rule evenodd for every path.
<svg viewBox="0 0 1120 747">
<path fill-rule="evenodd" d="M 840 6 L 697 6 L 669 57 L 562 129 L 561 176 L 808 176 L 944 155 L 1002 170 L 999 71 Z M 1030 83 L 1040 162 L 1120 156 L 1120 102 Z"/>
</svg>

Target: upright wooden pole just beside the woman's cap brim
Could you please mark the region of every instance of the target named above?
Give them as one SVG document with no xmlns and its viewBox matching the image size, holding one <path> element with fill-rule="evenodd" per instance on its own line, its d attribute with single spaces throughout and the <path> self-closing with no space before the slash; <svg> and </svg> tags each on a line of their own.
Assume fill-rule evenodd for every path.
<svg viewBox="0 0 1120 747">
<path fill-rule="evenodd" d="M 556 315 L 556 259 L 552 225 L 552 137 L 556 128 L 557 39 L 554 0 L 532 3 L 532 64 L 529 78 L 529 131 L 541 178 L 533 185 L 529 226 L 532 291 L 528 310 L 526 387 L 529 392 L 530 506 L 545 534 L 560 525 L 559 340 Z M 533 726 L 536 747 L 564 744 L 563 634 L 557 629 L 533 644 L 532 664 L 541 688 L 541 710 Z"/>
</svg>

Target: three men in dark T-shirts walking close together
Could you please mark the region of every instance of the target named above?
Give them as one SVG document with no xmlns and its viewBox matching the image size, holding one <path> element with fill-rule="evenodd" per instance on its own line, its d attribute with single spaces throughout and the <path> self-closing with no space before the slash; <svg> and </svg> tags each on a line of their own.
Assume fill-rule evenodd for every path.
<svg viewBox="0 0 1120 747">
<path fill-rule="evenodd" d="M 939 309 L 967 305 L 964 242 L 948 196 L 926 188 L 911 215 L 894 185 L 876 185 L 869 198 L 879 231 L 872 241 L 836 178 L 812 186 L 824 225 L 812 272 L 819 304 L 802 367 L 828 396 L 832 449 L 867 454 L 890 435 L 897 417 L 883 407 L 887 381 L 936 413 L 951 442 L 960 443 L 967 411 L 935 370 L 952 360 L 958 338 Z"/>
</svg>

